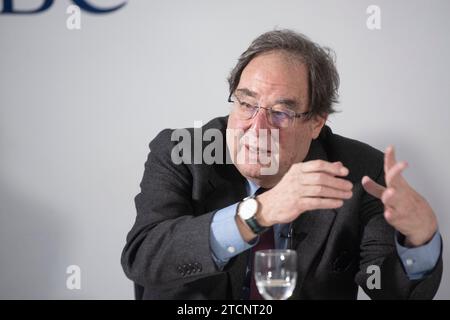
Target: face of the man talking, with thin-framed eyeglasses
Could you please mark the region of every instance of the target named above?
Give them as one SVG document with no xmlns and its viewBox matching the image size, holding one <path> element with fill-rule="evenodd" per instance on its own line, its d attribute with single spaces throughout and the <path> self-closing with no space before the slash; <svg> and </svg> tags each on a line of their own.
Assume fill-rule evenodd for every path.
<svg viewBox="0 0 450 320">
<path fill-rule="evenodd" d="M 235 91 L 248 101 L 257 101 L 262 107 L 271 107 L 278 101 L 290 101 L 289 107 L 297 113 L 309 111 L 308 72 L 306 66 L 298 59 L 290 57 L 281 51 L 261 54 L 251 60 L 244 68 L 237 89 Z M 228 118 L 227 145 L 233 163 L 239 172 L 247 179 L 261 187 L 271 188 L 283 177 L 292 164 L 305 159 L 312 139 L 318 137 L 325 124 L 326 118 L 313 117 L 309 120 L 294 118 L 287 128 L 276 128 L 268 121 L 267 111 L 259 109 L 258 113 L 248 120 L 242 120 L 234 108 Z M 265 130 L 261 130 L 265 129 Z M 243 132 L 243 136 L 239 135 Z M 274 143 L 267 145 L 269 158 L 278 159 L 277 170 L 274 174 L 262 174 L 262 168 L 272 163 L 248 161 L 252 152 L 258 154 L 258 139 L 261 132 L 266 132 L 268 139 L 278 132 L 278 147 Z M 249 136 L 256 139 L 249 139 Z M 244 153 L 245 161 L 237 161 L 238 155 Z"/>
</svg>

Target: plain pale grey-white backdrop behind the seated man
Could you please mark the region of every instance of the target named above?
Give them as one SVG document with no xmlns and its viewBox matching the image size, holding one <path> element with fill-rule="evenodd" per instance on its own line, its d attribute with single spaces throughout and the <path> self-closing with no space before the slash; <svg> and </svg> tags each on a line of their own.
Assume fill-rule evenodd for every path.
<svg viewBox="0 0 450 320">
<path fill-rule="evenodd" d="M 110 14 L 82 11 L 81 29 L 68 30 L 71 4 L 0 14 L 0 298 L 133 298 L 120 254 L 149 141 L 225 115 L 228 72 L 274 27 L 336 51 L 342 112 L 329 125 L 397 147 L 445 242 L 449 1 L 128 0 Z M 372 4 L 381 30 L 366 26 Z M 439 299 L 450 298 L 448 251 Z M 66 288 L 73 264 L 80 290 Z"/>
</svg>

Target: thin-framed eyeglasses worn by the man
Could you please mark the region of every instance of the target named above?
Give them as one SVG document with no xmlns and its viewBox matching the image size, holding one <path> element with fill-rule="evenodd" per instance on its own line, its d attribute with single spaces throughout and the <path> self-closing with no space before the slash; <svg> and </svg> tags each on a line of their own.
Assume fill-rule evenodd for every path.
<svg viewBox="0 0 450 320">
<path fill-rule="evenodd" d="M 247 97 L 237 97 L 235 94 L 230 94 L 228 102 L 234 103 L 234 111 L 236 116 L 241 120 L 253 119 L 259 112 L 259 109 L 267 111 L 267 119 L 269 124 L 277 128 L 287 128 L 292 125 L 295 118 L 308 118 L 310 111 L 297 113 L 288 107 L 277 104 L 272 107 L 262 107 L 250 102 Z"/>
</svg>

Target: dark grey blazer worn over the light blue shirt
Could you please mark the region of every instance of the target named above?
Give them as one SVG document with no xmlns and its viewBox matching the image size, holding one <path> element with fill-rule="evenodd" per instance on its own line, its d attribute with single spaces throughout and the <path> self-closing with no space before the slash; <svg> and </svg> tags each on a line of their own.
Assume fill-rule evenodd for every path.
<svg viewBox="0 0 450 320">
<path fill-rule="evenodd" d="M 223 133 L 227 117 L 203 130 Z M 192 129 L 190 129 L 192 132 Z M 180 164 L 171 161 L 178 142 L 163 130 L 150 143 L 136 222 L 127 236 L 122 266 L 135 282 L 137 298 L 239 299 L 249 250 L 218 271 L 211 258 L 214 213 L 246 196 L 246 180 L 232 164 Z M 225 137 L 225 134 L 223 135 Z M 226 149 L 224 149 L 226 153 Z M 383 154 L 325 126 L 307 160 L 342 161 L 349 168 L 353 197 L 337 210 L 305 212 L 293 222 L 292 248 L 299 256 L 293 299 L 356 299 L 358 285 L 373 299 L 431 299 L 442 276 L 442 257 L 424 279 L 407 278 L 397 255 L 394 229 L 383 204 L 367 194 L 361 178 L 384 185 Z M 381 268 L 381 289 L 368 289 L 369 265 Z"/>
</svg>

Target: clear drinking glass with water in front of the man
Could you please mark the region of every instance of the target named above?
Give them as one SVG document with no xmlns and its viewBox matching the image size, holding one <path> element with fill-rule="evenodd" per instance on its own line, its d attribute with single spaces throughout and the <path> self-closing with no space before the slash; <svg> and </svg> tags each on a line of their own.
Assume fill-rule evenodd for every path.
<svg viewBox="0 0 450 320">
<path fill-rule="evenodd" d="M 261 250 L 255 253 L 254 276 L 266 300 L 286 300 L 297 282 L 297 253 L 294 250 Z"/>
</svg>

